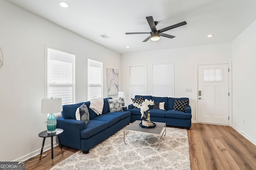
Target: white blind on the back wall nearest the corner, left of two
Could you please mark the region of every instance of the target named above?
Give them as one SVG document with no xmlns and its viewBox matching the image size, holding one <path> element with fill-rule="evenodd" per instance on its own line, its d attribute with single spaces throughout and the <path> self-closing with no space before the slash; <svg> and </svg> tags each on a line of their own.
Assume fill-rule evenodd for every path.
<svg viewBox="0 0 256 170">
<path fill-rule="evenodd" d="M 129 72 L 129 102 L 135 95 L 147 95 L 147 67 L 130 66 Z"/>
</svg>

